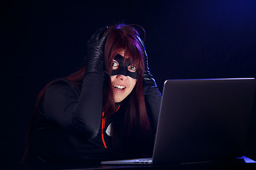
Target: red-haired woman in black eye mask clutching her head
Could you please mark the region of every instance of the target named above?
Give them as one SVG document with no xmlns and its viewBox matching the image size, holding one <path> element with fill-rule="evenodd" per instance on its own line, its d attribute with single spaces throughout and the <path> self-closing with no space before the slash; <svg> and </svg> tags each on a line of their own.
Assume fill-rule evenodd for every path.
<svg viewBox="0 0 256 170">
<path fill-rule="evenodd" d="M 150 157 L 160 101 L 137 30 L 124 24 L 97 30 L 87 42 L 85 67 L 39 94 L 24 160 Z"/>
</svg>

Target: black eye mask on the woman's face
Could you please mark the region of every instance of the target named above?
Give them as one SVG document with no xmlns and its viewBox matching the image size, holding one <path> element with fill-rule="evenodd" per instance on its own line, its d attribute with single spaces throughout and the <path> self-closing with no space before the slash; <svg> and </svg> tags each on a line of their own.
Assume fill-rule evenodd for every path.
<svg viewBox="0 0 256 170">
<path fill-rule="evenodd" d="M 122 74 L 124 76 L 129 76 L 133 79 L 137 79 L 137 72 L 129 72 L 128 70 L 129 65 L 131 65 L 129 58 L 124 60 L 124 57 L 122 57 L 122 55 L 117 54 L 116 56 L 114 56 L 114 60 L 119 63 L 119 67 L 118 69 L 112 70 L 111 76 Z"/>
</svg>

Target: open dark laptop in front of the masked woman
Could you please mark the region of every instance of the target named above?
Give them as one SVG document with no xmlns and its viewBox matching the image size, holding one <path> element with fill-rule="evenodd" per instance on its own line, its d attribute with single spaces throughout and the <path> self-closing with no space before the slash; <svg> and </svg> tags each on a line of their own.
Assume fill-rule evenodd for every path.
<svg viewBox="0 0 256 170">
<path fill-rule="evenodd" d="M 101 164 L 187 164 L 242 157 L 254 78 L 164 82 L 152 158 Z"/>
</svg>

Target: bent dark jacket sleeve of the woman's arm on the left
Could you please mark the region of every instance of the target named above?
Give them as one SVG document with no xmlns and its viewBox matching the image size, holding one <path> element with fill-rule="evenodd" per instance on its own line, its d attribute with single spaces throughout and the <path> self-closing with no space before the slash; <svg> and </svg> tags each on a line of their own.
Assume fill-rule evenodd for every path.
<svg viewBox="0 0 256 170">
<path fill-rule="evenodd" d="M 80 94 L 70 81 L 53 82 L 43 101 L 46 118 L 70 132 L 95 137 L 102 118 L 103 81 L 100 74 L 86 74 Z"/>
</svg>

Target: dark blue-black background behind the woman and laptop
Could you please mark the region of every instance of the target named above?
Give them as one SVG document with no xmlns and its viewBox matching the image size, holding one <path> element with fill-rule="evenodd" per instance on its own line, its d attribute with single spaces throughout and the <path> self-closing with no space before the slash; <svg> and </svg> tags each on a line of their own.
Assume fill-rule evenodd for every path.
<svg viewBox="0 0 256 170">
<path fill-rule="evenodd" d="M 1 1 L 0 164 L 18 164 L 38 92 L 80 68 L 97 28 L 144 27 L 149 67 L 162 91 L 166 79 L 256 77 L 255 9 L 253 0 Z"/>
</svg>

